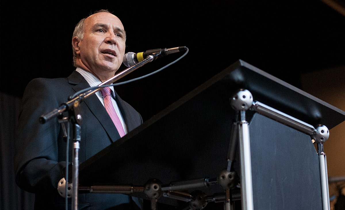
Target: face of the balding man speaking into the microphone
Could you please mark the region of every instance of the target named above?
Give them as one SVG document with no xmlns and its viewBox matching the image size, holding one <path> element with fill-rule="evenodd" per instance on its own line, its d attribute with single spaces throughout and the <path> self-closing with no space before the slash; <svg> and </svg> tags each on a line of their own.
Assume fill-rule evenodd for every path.
<svg viewBox="0 0 345 210">
<path fill-rule="evenodd" d="M 85 20 L 83 40 L 77 51 L 81 67 L 100 75 L 115 73 L 125 54 L 125 39 L 124 26 L 115 15 L 107 12 L 91 15 Z"/>
</svg>

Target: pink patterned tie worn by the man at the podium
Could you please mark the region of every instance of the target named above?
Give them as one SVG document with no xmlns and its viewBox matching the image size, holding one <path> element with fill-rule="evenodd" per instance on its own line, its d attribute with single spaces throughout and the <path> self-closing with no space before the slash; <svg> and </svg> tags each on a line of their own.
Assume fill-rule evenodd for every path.
<svg viewBox="0 0 345 210">
<path fill-rule="evenodd" d="M 106 107 L 106 110 L 112 120 L 112 122 L 115 124 L 117 131 L 119 132 L 120 136 L 123 137 L 125 135 L 124 128 L 122 127 L 121 121 L 119 117 L 117 116 L 114 106 L 111 103 L 111 96 L 110 96 L 110 88 L 105 87 L 101 90 L 103 98 L 104 98 L 104 106 Z"/>
</svg>

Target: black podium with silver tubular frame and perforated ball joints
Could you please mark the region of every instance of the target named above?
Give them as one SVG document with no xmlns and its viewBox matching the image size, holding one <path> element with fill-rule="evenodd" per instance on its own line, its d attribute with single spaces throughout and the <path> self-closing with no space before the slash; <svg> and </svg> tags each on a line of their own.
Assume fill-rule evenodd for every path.
<svg viewBox="0 0 345 210">
<path fill-rule="evenodd" d="M 244 90 L 253 106 L 235 110 L 231 100 Z M 148 199 L 140 186 L 158 180 L 164 193 L 158 208 L 160 202 L 183 207 L 183 200 L 193 200 L 188 193 L 202 191 L 208 201 L 240 199 L 242 209 L 327 209 L 323 139 L 315 150 L 311 136 L 320 133 L 317 126 L 328 132 L 344 120 L 344 111 L 239 60 L 80 164 L 79 184 L 108 186 L 101 193 L 114 191 L 113 185 L 139 186 L 130 194 Z M 237 187 L 219 185 L 224 171 L 237 172 Z M 174 186 L 183 186 L 176 190 L 183 193 L 175 195 Z"/>
</svg>

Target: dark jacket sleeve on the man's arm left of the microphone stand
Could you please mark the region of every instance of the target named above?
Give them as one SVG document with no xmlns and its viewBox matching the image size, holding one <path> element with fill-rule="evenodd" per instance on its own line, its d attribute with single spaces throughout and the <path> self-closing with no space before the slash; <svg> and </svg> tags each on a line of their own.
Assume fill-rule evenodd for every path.
<svg viewBox="0 0 345 210">
<path fill-rule="evenodd" d="M 56 92 L 49 79 L 34 79 L 24 91 L 14 154 L 17 185 L 32 193 L 57 192 L 58 181 L 64 177 L 65 161 L 58 156 L 60 123 L 52 118 L 45 124 L 39 117 L 59 107 Z"/>
</svg>

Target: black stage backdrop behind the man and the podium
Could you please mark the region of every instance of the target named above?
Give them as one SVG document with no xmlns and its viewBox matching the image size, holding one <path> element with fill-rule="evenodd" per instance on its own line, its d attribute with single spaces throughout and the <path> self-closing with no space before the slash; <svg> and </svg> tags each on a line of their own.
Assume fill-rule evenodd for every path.
<svg viewBox="0 0 345 210">
<path fill-rule="evenodd" d="M 73 71 L 72 32 L 75 24 L 90 12 L 109 9 L 122 20 L 127 31 L 126 52 L 188 47 L 189 53 L 178 63 L 148 78 L 116 87 L 144 120 L 238 59 L 298 88 L 300 74 L 345 64 L 345 17 L 321 1 L 0 4 L 3 210 L 32 209 L 32 195 L 16 186 L 12 168 L 13 134 L 24 87 L 36 77 L 67 77 Z M 180 55 L 148 63 L 121 81 L 153 72 Z"/>
</svg>

